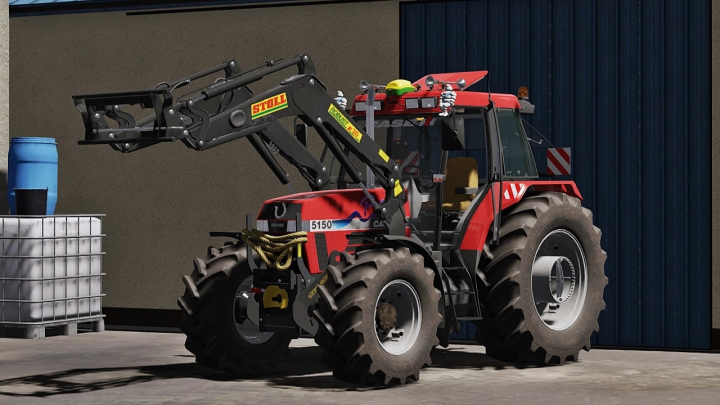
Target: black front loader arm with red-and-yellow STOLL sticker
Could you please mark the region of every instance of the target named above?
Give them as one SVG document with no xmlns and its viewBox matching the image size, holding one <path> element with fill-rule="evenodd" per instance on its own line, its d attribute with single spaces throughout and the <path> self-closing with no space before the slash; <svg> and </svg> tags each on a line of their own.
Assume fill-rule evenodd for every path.
<svg viewBox="0 0 720 405">
<path fill-rule="evenodd" d="M 298 67 L 298 74 L 273 89 L 254 95 L 247 88 L 268 74 L 293 66 Z M 288 175 L 263 141 L 275 144 L 281 156 L 299 170 L 313 190 L 323 189 L 329 185 L 326 167 L 277 122 L 284 117 L 299 117 L 317 131 L 352 181 L 363 189 L 390 233 L 404 234 L 403 205 L 407 196 L 400 185 L 398 165 L 335 103 L 314 76 L 314 65 L 308 55 L 301 54 L 282 63 L 271 61 L 244 73 L 232 70 L 235 67 L 234 61 L 225 62 L 161 89 L 74 96 L 86 129 L 85 140 L 78 143 L 110 144 L 113 149 L 128 153 L 156 143 L 180 140 L 187 147 L 202 151 L 248 137 L 283 184 L 288 184 Z M 226 70 L 225 79 L 173 101 L 172 86 L 222 69 Z M 152 107 L 155 114 L 136 122 L 122 111 L 121 106 L 125 104 Z M 105 117 L 115 120 L 119 126 L 110 127 Z M 346 151 L 373 171 L 385 190 L 384 200 L 376 201 L 368 192 L 361 172 L 353 166 Z"/>
</svg>

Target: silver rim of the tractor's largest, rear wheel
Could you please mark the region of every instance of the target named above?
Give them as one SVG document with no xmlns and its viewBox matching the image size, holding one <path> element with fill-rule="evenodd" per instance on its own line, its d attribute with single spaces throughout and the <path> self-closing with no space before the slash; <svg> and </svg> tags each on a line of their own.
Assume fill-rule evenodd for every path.
<svg viewBox="0 0 720 405">
<path fill-rule="evenodd" d="M 548 233 L 535 252 L 532 294 L 540 320 L 552 330 L 571 327 L 587 296 L 587 262 L 582 245 L 565 229 Z"/>
</svg>

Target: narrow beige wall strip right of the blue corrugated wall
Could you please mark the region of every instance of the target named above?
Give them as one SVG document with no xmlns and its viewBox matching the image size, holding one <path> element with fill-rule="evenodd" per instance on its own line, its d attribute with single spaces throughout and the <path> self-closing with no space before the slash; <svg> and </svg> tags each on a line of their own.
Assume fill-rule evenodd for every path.
<svg viewBox="0 0 720 405">
<path fill-rule="evenodd" d="M 717 1 L 712 2 L 712 76 L 712 94 L 720 94 L 720 2 Z M 712 124 L 712 327 L 720 329 L 720 109 L 718 108 L 712 109 Z M 720 345 L 720 342 L 718 344 Z"/>
</svg>

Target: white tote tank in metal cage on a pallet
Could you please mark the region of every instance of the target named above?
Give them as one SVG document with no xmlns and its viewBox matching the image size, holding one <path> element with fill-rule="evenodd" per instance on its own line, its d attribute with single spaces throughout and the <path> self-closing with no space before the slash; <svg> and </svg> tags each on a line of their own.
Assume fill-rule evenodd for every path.
<svg viewBox="0 0 720 405">
<path fill-rule="evenodd" d="M 104 215 L 0 216 L 0 329 L 104 329 Z"/>
</svg>

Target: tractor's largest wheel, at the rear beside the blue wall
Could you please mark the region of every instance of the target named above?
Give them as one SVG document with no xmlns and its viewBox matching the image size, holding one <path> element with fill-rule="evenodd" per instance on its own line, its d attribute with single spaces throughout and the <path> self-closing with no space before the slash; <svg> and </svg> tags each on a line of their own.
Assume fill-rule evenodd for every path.
<svg viewBox="0 0 720 405">
<path fill-rule="evenodd" d="M 499 237 L 497 246 L 486 243 L 492 260 L 478 271 L 479 284 L 485 288 L 476 340 L 488 356 L 501 361 L 539 365 L 576 361 L 581 349 L 590 350 L 590 337 L 599 330 L 598 317 L 605 309 L 607 255 L 600 247 L 601 232 L 593 226 L 592 213 L 577 198 L 539 193 L 503 213 Z M 549 238 L 560 242 L 548 245 Z M 539 271 L 534 267 L 537 259 L 552 256 L 552 249 L 564 252 L 558 256 L 568 256 L 576 269 L 571 288 L 565 288 L 568 301 L 555 312 L 550 312 L 549 304 L 537 304 L 539 283 L 533 284 L 533 274 L 537 277 Z"/>
</svg>

